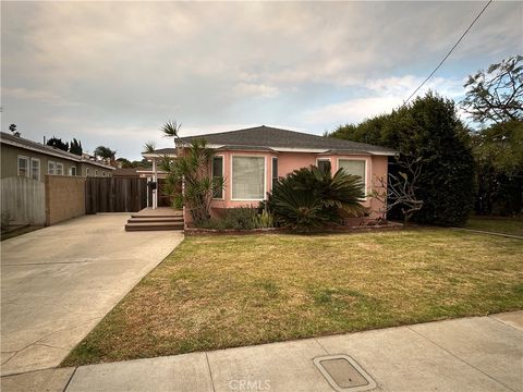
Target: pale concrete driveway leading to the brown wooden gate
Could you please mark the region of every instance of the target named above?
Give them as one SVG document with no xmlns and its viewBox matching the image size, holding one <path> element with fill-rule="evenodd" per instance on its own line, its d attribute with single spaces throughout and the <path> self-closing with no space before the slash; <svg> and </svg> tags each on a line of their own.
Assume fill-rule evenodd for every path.
<svg viewBox="0 0 523 392">
<path fill-rule="evenodd" d="M 125 232 L 127 213 L 74 219 L 1 243 L 1 375 L 54 367 L 183 240 Z"/>
</svg>

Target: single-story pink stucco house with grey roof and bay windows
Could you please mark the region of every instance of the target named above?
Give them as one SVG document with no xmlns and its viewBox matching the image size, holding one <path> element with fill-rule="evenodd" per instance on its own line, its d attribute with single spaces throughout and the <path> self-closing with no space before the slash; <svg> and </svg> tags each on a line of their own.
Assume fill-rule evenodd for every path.
<svg viewBox="0 0 523 392">
<path fill-rule="evenodd" d="M 212 175 L 223 176 L 226 187 L 211 203 L 211 215 L 223 208 L 255 206 L 264 200 L 267 192 L 278 177 L 295 169 L 323 166 L 329 162 L 332 172 L 343 168 L 360 175 L 365 184 L 364 205 L 369 207 L 372 217 L 378 217 L 382 206 L 372 197 L 380 183 L 377 177 L 387 179 L 388 157 L 396 154 L 389 148 L 368 144 L 341 140 L 270 126 L 182 137 L 183 144 L 194 138 L 205 138 L 216 155 L 211 162 Z M 144 154 L 154 164 L 153 175 L 161 181 L 165 173 L 157 170 L 156 160 L 165 156 L 175 157 L 175 149 L 167 148 Z M 154 179 L 153 179 L 154 180 Z M 157 197 L 157 196 L 156 196 Z M 155 205 L 156 203 L 156 205 Z M 158 200 L 153 200 L 153 207 Z M 185 213 L 185 222 L 191 221 Z"/>
</svg>

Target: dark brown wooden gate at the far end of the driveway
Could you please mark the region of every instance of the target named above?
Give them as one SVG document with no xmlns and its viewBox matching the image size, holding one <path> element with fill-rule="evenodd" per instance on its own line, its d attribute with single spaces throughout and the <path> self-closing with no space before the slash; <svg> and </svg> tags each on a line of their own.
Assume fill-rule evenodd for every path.
<svg viewBox="0 0 523 392">
<path fill-rule="evenodd" d="M 147 207 L 147 180 L 87 177 L 85 213 L 137 212 Z"/>
</svg>

